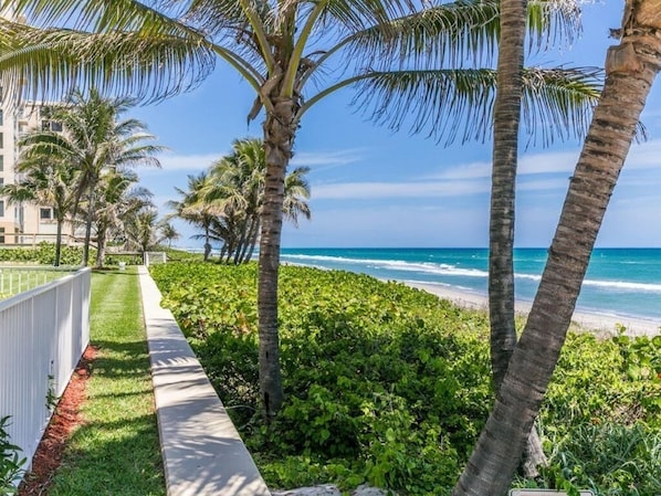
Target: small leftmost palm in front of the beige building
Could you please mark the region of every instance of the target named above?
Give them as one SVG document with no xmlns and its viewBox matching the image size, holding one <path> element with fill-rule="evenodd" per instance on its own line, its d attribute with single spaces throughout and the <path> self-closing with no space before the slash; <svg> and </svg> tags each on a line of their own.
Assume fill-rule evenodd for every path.
<svg viewBox="0 0 661 496">
<path fill-rule="evenodd" d="M 52 207 L 56 222 L 54 266 L 60 266 L 62 253 L 62 226 L 72 213 L 75 202 L 75 190 L 72 184 L 76 180 L 76 171 L 67 162 L 57 157 L 43 154 L 39 146 L 30 145 L 32 138 L 19 141 L 21 157 L 17 170 L 21 179 L 0 189 L 9 202 L 30 202 L 42 207 Z"/>
</svg>

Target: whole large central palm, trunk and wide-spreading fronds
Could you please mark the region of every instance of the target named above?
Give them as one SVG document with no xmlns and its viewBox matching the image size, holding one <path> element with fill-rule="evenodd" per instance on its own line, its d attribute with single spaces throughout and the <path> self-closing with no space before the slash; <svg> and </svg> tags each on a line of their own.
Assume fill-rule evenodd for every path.
<svg viewBox="0 0 661 496">
<path fill-rule="evenodd" d="M 157 99 L 193 87 L 220 57 L 255 91 L 248 118 L 250 122 L 264 110 L 266 159 L 258 281 L 260 388 L 266 418 L 275 415 L 283 401 L 277 273 L 284 179 L 305 113 L 335 91 L 365 82 L 364 94 L 378 97 L 387 93 L 390 103 L 396 102 L 392 95 L 409 88 L 403 91 L 407 102 L 413 97 L 424 101 L 422 114 L 428 118 L 423 122 L 433 122 L 437 129 L 451 136 L 455 134 L 457 115 L 466 106 L 466 128 L 478 133 L 490 128 L 483 117 L 489 115 L 491 98 L 484 94 L 485 88 L 495 87 L 493 71 L 411 71 L 406 65 L 413 51 L 418 61 L 441 66 L 461 61 L 478 46 L 493 51 L 499 31 L 495 0 L 434 7 L 420 2 L 419 8 L 407 0 L 200 0 L 183 4 L 162 0 L 148 7 L 126 0 L 120 14 L 115 3 L 105 0 L 4 0 L 3 6 L 45 25 L 60 22 L 75 28 L 39 30 L 0 22 L 0 45 L 6 53 L 0 57 L 0 71 L 14 84 L 25 82 L 28 87 L 56 91 L 85 81 L 104 89 Z M 539 22 L 532 25 L 546 27 L 544 15 L 548 12 L 536 9 Z M 338 61 L 340 55 L 344 60 Z M 332 70 L 342 76 L 326 82 Z M 546 74 L 553 81 L 548 92 L 539 84 Z M 543 113 L 548 124 L 545 129 L 552 133 L 564 130 L 567 124 L 566 107 L 554 106 L 549 96 L 563 78 L 573 94 L 584 92 L 583 81 L 574 71 L 534 71 L 526 80 L 531 91 L 547 96 L 531 99 L 532 108 L 538 108 L 537 103 L 552 103 Z M 433 97 L 443 105 L 432 107 L 430 116 L 429 98 Z M 576 102 L 585 101 L 570 103 Z"/>
</svg>

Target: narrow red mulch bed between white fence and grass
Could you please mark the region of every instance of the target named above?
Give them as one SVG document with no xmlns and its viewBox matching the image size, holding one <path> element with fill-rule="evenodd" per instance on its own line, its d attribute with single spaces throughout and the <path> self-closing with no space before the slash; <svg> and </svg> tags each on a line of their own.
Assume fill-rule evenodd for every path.
<svg viewBox="0 0 661 496">
<path fill-rule="evenodd" d="M 69 436 L 77 425 L 84 422 L 80 415 L 80 407 L 87 398 L 85 390 L 92 374 L 92 361 L 96 358 L 97 352 L 98 349 L 93 346 L 85 349 L 36 447 L 32 458 L 32 468 L 19 486 L 19 496 L 48 494 L 53 475 L 62 463 L 62 453 Z"/>
</svg>

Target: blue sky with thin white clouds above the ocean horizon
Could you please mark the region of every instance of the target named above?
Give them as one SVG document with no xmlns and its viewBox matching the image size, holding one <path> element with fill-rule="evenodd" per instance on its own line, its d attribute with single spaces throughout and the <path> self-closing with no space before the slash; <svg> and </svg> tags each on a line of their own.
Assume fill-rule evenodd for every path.
<svg viewBox="0 0 661 496">
<path fill-rule="evenodd" d="M 574 46 L 543 55 L 545 65 L 602 66 L 616 41 L 623 2 L 584 6 L 584 32 Z M 407 130 L 394 134 L 349 106 L 344 89 L 313 107 L 295 143 L 293 165 L 312 168 L 311 221 L 286 225 L 283 246 L 486 246 L 491 144 L 448 148 Z M 225 155 L 235 138 L 261 136 L 261 116 L 246 125 L 254 95 L 222 63 L 196 91 L 140 107 L 144 120 L 170 151 L 162 169 L 141 170 L 161 208 L 186 188 L 187 175 Z M 661 88 L 652 89 L 642 120 L 649 140 L 633 145 L 599 234 L 599 246 L 661 246 Z M 522 139 L 525 144 L 525 139 Z M 547 246 L 581 144 L 522 150 L 517 182 L 516 244 Z M 177 224 L 192 246 L 195 231 Z"/>
</svg>

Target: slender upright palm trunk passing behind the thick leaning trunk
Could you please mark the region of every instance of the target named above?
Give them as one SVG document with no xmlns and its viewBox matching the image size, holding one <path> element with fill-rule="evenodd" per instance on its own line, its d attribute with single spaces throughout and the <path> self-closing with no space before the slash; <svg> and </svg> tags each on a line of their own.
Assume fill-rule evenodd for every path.
<svg viewBox="0 0 661 496">
<path fill-rule="evenodd" d="M 514 220 L 518 131 L 523 93 L 524 42 L 527 0 L 501 2 L 497 92 L 494 105 L 493 170 L 489 229 L 489 317 L 491 369 L 497 392 L 516 346 L 514 318 Z M 524 453 L 527 477 L 547 463 L 537 431 L 533 429 Z"/>
</svg>

